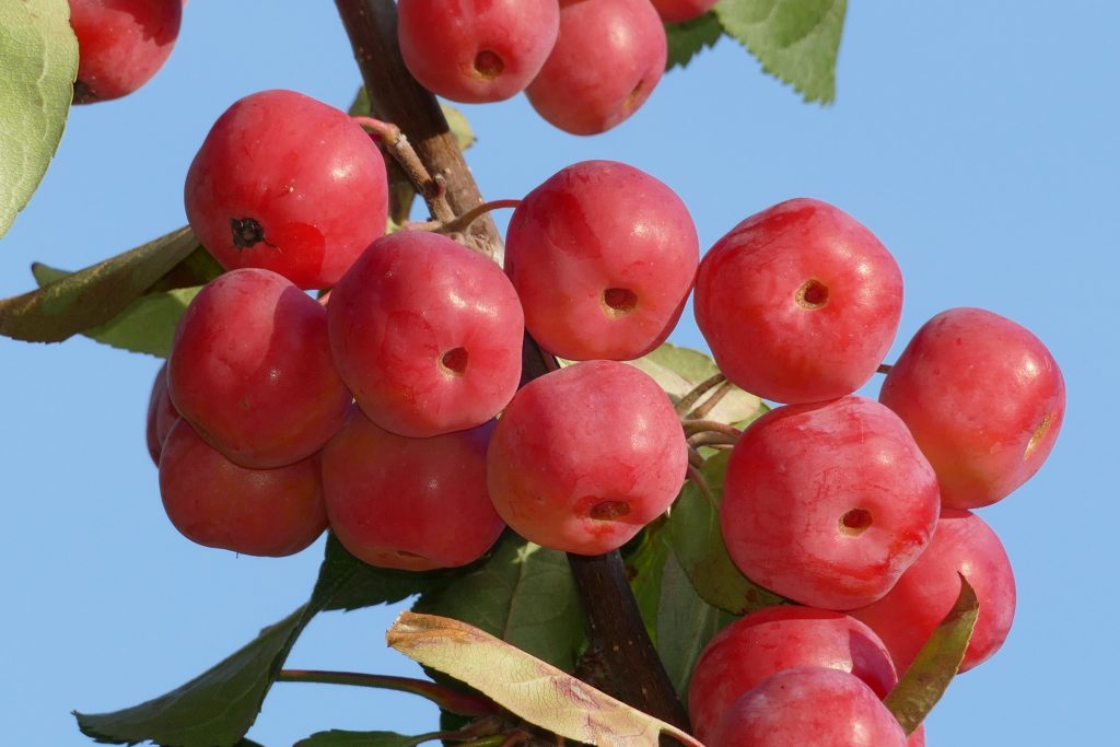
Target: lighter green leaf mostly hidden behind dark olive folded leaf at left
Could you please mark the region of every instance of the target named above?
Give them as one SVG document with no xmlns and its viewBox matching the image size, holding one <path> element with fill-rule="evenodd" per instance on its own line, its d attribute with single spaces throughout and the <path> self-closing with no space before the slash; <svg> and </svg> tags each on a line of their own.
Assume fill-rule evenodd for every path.
<svg viewBox="0 0 1120 747">
<path fill-rule="evenodd" d="M 38 262 L 31 265 L 31 273 L 39 287 L 72 274 Z M 171 353 L 171 340 L 175 338 L 179 317 L 199 290 L 200 287 L 178 288 L 141 296 L 108 324 L 86 329 L 82 334 L 105 345 L 166 358 Z"/>
</svg>

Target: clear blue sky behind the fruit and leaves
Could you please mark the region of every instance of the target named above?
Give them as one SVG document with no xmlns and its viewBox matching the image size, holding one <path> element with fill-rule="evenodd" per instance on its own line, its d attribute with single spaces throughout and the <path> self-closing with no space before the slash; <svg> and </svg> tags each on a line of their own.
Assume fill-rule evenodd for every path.
<svg viewBox="0 0 1120 747">
<path fill-rule="evenodd" d="M 465 108 L 488 198 L 520 197 L 578 160 L 622 160 L 681 195 L 707 248 L 776 202 L 818 197 L 898 260 L 906 300 L 892 358 L 955 306 L 1010 317 L 1049 346 L 1068 389 L 1062 437 L 1032 482 L 982 512 L 1018 579 L 1015 627 L 954 682 L 927 721 L 931 747 L 1095 743 L 1114 708 L 1118 27 L 1120 7 L 1103 1 L 857 2 L 832 106 L 801 103 L 724 40 L 600 137 L 552 129 L 523 97 Z M 0 241 L 0 296 L 31 287 L 31 261 L 76 269 L 183 225 L 187 166 L 234 100 L 288 87 L 346 106 L 357 85 L 330 3 L 192 2 L 153 82 L 72 113 L 40 192 Z M 690 316 L 673 340 L 702 346 Z M 71 709 L 162 693 L 310 589 L 321 544 L 237 558 L 167 522 L 143 435 L 158 365 L 85 339 L 0 338 L 6 743 L 88 744 Z M 320 616 L 289 663 L 413 672 L 383 644 L 395 611 Z M 432 725 L 407 695 L 284 684 L 250 736 L 284 745 L 332 727 Z"/>
</svg>

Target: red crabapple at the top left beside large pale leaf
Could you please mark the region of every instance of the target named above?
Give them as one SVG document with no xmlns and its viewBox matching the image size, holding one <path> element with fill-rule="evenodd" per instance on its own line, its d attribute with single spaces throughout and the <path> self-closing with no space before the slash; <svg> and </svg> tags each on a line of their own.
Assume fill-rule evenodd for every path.
<svg viewBox="0 0 1120 747">
<path fill-rule="evenodd" d="M 180 0 L 69 0 L 77 37 L 74 103 L 128 95 L 167 62 L 183 21 Z"/>
</svg>

